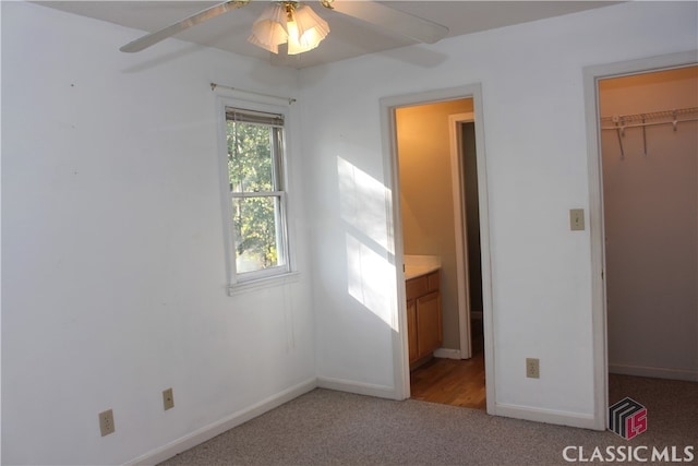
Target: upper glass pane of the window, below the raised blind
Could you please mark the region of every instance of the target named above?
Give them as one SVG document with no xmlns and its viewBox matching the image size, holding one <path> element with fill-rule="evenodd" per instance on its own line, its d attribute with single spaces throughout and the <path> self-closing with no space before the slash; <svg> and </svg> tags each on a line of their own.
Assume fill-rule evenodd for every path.
<svg viewBox="0 0 698 466">
<path fill-rule="evenodd" d="M 228 120 L 230 191 L 275 191 L 273 132 L 268 126 Z"/>
</svg>

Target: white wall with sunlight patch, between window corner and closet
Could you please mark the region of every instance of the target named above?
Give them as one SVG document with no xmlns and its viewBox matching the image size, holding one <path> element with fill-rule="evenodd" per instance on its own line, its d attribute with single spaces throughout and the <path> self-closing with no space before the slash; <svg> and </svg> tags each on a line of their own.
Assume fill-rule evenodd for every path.
<svg viewBox="0 0 698 466">
<path fill-rule="evenodd" d="M 390 172 L 378 99 L 482 83 L 493 268 L 497 413 L 592 426 L 594 413 L 590 239 L 569 231 L 568 211 L 587 207 L 589 180 L 582 69 L 696 46 L 695 3 L 634 2 L 413 46 L 303 70 L 303 120 L 315 195 L 313 243 L 321 380 L 399 393 L 389 353 L 396 302 L 393 241 L 381 190 Z M 366 175 L 374 198 L 347 223 L 338 160 Z M 344 162 L 341 162 L 344 164 Z M 370 187 L 370 188 L 369 188 Z M 389 196 L 388 196 L 389 199 Z M 371 201 L 371 202 L 369 202 Z M 349 299 L 348 275 L 361 238 L 385 274 L 372 277 L 376 319 Z M 381 311 L 382 314 L 386 310 Z M 374 324 L 366 327 L 366 324 Z M 601 335 L 595 336 L 602 338 Z M 525 378 L 525 358 L 541 379 Z M 397 380 L 397 383 L 396 383 Z"/>
</svg>

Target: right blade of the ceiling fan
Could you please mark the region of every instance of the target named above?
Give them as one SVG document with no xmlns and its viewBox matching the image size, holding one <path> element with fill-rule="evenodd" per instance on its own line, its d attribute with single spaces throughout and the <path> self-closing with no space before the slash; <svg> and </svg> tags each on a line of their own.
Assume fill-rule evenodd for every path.
<svg viewBox="0 0 698 466">
<path fill-rule="evenodd" d="M 323 5 L 339 13 L 384 27 L 421 43 L 434 44 L 446 37 L 448 27 L 375 1 L 329 0 Z"/>
</svg>

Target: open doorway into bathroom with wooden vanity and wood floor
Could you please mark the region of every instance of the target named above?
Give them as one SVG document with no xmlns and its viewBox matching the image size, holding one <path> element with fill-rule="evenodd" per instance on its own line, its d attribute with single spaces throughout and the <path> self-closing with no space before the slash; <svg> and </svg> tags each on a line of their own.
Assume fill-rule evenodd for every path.
<svg viewBox="0 0 698 466">
<path fill-rule="evenodd" d="M 410 393 L 417 399 L 485 408 L 480 200 L 473 99 L 395 108 L 401 242 L 410 335 Z M 412 271 L 437 264 L 440 335 L 424 356 L 410 290 Z M 419 265 L 416 267 L 416 265 Z M 411 284 L 411 286 L 410 286 Z M 434 299 L 430 298 L 430 302 Z M 417 309 L 416 309 L 417 307 Z M 428 324 L 430 325 L 430 324 Z M 435 357 L 435 358 L 434 358 Z"/>
</svg>

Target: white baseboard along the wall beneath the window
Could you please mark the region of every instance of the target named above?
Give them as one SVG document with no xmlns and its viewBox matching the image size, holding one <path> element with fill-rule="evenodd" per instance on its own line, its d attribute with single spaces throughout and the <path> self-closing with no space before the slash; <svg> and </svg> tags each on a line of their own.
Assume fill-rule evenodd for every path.
<svg viewBox="0 0 698 466">
<path fill-rule="evenodd" d="M 232 415 L 227 416 L 217 422 L 197 429 L 188 435 L 177 439 L 173 442 L 170 442 L 159 449 L 146 453 L 145 455 L 139 456 L 137 458 L 125 463 L 125 465 L 141 466 L 161 463 L 166 459 L 171 458 L 178 453 L 182 453 L 189 449 L 192 449 L 201 443 L 206 442 L 207 440 L 213 439 L 216 435 L 219 435 L 234 427 L 240 426 L 243 422 L 249 421 L 250 419 L 253 419 L 268 410 L 277 408 L 284 403 L 290 402 L 291 399 L 310 392 L 316 386 L 317 380 L 315 378 L 299 383 L 298 385 L 291 386 L 290 389 L 277 393 L 276 395 L 269 396 L 268 398 L 263 399 L 260 403 L 250 406 L 249 408 L 242 409 L 238 413 L 233 413 Z"/>
</svg>

